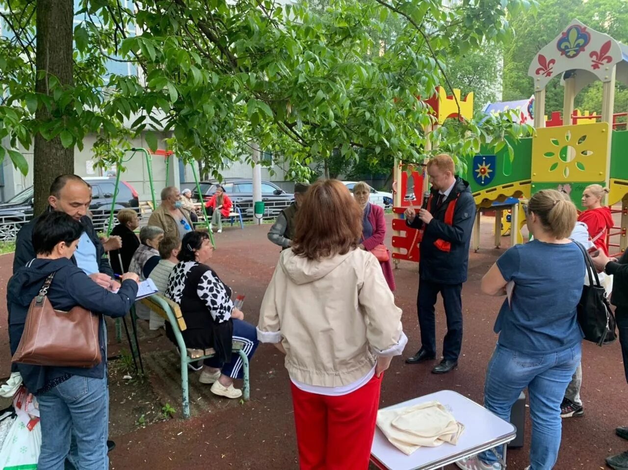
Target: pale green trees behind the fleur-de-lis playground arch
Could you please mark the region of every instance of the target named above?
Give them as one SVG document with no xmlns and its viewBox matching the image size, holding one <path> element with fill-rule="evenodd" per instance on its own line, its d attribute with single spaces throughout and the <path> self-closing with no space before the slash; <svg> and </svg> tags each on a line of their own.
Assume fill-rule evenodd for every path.
<svg viewBox="0 0 628 470">
<path fill-rule="evenodd" d="M 533 80 L 528 77 L 528 67 L 536 53 L 558 36 L 574 18 L 594 30 L 607 33 L 616 40 L 628 43 L 628 3 L 624 0 L 539 0 L 536 11 L 522 12 L 514 17 L 512 27 L 515 39 L 504 47 L 504 100 L 526 99 L 534 93 Z M 602 94 L 599 85 L 582 90 L 575 100 L 576 107 L 590 107 L 601 111 Z M 624 111 L 622 96 L 625 89 L 617 92 L 615 109 Z M 619 107 L 618 107 L 619 106 Z M 546 87 L 545 109 L 563 109 L 563 87 L 560 77 L 555 77 Z"/>
</svg>

